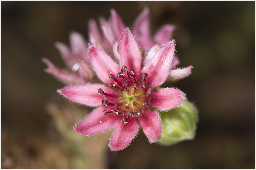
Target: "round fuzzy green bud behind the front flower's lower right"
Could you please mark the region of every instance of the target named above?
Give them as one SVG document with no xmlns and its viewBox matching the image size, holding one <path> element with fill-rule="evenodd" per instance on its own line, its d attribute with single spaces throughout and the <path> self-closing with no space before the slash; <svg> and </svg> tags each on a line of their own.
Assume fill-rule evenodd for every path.
<svg viewBox="0 0 256 170">
<path fill-rule="evenodd" d="M 183 101 L 179 107 L 160 112 L 162 119 L 162 134 L 159 143 L 171 145 L 195 137 L 198 111 L 189 101 Z"/>
</svg>

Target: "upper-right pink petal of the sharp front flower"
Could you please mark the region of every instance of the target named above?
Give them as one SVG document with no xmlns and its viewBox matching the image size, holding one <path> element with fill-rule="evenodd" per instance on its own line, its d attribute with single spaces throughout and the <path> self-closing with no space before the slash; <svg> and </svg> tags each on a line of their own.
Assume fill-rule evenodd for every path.
<svg viewBox="0 0 256 170">
<path fill-rule="evenodd" d="M 154 89 L 163 84 L 172 66 L 172 59 L 175 51 L 174 40 L 165 44 L 145 65 L 142 73 L 147 73 L 148 87 Z"/>
</svg>

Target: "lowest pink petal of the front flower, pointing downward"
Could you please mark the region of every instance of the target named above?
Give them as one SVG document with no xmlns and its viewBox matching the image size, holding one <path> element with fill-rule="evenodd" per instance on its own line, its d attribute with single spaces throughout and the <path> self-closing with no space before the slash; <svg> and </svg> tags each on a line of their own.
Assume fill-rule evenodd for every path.
<svg viewBox="0 0 256 170">
<path fill-rule="evenodd" d="M 124 124 L 120 121 L 113 131 L 112 138 L 109 142 L 111 151 L 120 151 L 126 148 L 139 131 L 139 125 L 136 118 L 130 119 Z"/>
</svg>

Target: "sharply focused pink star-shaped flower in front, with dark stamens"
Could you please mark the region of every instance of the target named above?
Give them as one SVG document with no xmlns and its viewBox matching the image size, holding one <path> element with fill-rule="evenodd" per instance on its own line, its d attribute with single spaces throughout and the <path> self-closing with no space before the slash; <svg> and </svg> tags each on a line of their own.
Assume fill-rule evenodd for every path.
<svg viewBox="0 0 256 170">
<path fill-rule="evenodd" d="M 119 50 L 116 50 L 120 67 L 104 51 L 89 44 L 91 64 L 104 85 L 76 85 L 58 90 L 74 102 L 99 106 L 75 127 L 74 133 L 94 135 L 115 128 L 109 142 L 112 151 L 127 147 L 139 126 L 150 143 L 158 141 L 162 125 L 154 110 L 167 111 L 185 100 L 185 94 L 175 88 L 157 91 L 169 75 L 174 51 L 174 40 L 167 42 L 141 69 L 139 46 L 128 28 L 121 35 Z"/>
</svg>

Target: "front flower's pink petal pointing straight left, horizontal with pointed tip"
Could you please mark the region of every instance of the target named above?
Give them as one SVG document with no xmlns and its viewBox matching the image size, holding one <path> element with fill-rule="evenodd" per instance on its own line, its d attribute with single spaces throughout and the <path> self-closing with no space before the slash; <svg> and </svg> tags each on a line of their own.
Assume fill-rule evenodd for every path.
<svg viewBox="0 0 256 170">
<path fill-rule="evenodd" d="M 99 84 L 69 86 L 57 90 L 57 92 L 74 102 L 96 107 L 101 106 L 101 101 L 105 98 L 105 95 L 100 95 L 98 93 L 99 88 L 102 88 L 108 94 L 114 94 L 117 92 Z M 113 102 L 113 99 L 111 99 L 111 97 L 109 97 L 108 100 L 109 102 Z"/>
</svg>

